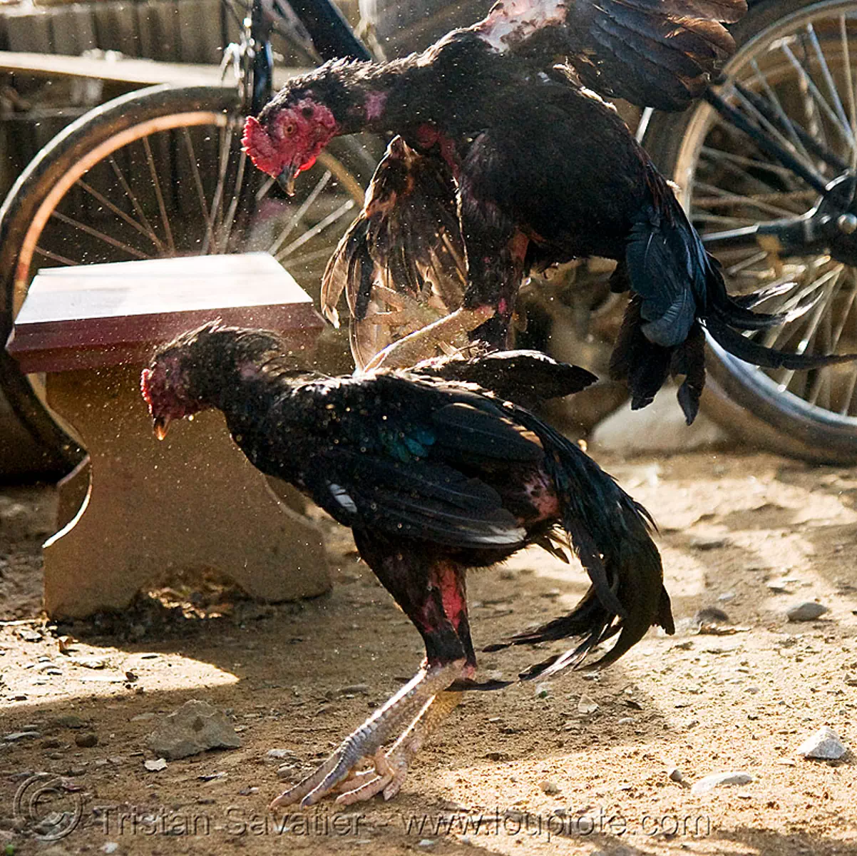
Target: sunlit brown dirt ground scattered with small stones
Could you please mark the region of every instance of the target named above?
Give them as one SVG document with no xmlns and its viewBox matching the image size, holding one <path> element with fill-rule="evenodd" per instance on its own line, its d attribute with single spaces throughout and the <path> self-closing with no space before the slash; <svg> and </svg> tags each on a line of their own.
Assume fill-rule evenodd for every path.
<svg viewBox="0 0 857 856">
<path fill-rule="evenodd" d="M 0 491 L 0 852 L 857 853 L 854 754 L 796 753 L 824 725 L 857 745 L 857 471 L 710 453 L 602 464 L 661 527 L 676 635 L 650 633 L 599 675 L 471 694 L 391 802 L 267 816 L 279 766 L 309 769 L 422 655 L 349 533 L 326 524 L 338 566 L 316 600 L 177 583 L 119 617 L 57 626 L 39 618 L 52 491 Z M 577 566 L 537 550 L 474 574 L 477 648 L 583 591 Z M 806 600 L 830 611 L 788 622 Z M 728 623 L 700 632 L 705 607 Z M 482 675 L 546 653 L 482 654 Z M 191 698 L 229 711 L 243 746 L 147 770 L 147 735 Z M 692 793 L 723 771 L 752 781 Z M 45 841 L 27 811 L 44 813 L 43 839 L 80 817 Z"/>
</svg>

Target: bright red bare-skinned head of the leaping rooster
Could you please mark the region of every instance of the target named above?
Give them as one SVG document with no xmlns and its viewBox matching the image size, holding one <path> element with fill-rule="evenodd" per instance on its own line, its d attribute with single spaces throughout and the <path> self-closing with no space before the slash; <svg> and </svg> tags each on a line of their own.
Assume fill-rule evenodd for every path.
<svg viewBox="0 0 857 856">
<path fill-rule="evenodd" d="M 321 149 L 336 136 L 339 124 L 333 112 L 308 94 L 272 104 L 250 116 L 244 125 L 244 151 L 254 165 L 279 181 L 291 196 L 295 176 L 313 166 Z"/>
</svg>

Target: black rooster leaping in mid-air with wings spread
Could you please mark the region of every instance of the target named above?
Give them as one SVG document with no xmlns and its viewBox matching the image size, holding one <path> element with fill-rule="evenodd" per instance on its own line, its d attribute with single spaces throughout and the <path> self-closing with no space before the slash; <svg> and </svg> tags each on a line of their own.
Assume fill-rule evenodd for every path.
<svg viewBox="0 0 857 856">
<path fill-rule="evenodd" d="M 685 107 L 734 50 L 720 22 L 745 11 L 745 0 L 501 0 L 422 53 L 292 78 L 244 133 L 255 165 L 287 189 L 333 136 L 399 135 L 323 284 L 332 320 L 347 292 L 358 366 L 411 365 L 464 333 L 506 347 L 524 275 L 581 256 L 617 260 L 611 285 L 632 292 L 611 371 L 627 379 L 633 407 L 683 375 L 692 421 L 701 325 L 757 365 L 848 359 L 782 353 L 740 334 L 790 316 L 752 312 L 758 296 L 728 296 L 666 179 L 592 91 Z M 554 65 L 560 57 L 571 64 Z M 451 314 L 417 330 L 421 307 Z M 373 359 L 372 331 L 384 324 L 417 332 Z"/>
</svg>

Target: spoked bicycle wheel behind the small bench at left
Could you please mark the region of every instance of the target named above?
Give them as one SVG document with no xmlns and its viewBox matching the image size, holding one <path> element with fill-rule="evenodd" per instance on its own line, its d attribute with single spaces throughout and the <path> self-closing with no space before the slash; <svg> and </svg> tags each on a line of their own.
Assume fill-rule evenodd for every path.
<svg viewBox="0 0 857 856">
<path fill-rule="evenodd" d="M 159 86 L 109 101 L 56 136 L 0 208 L 3 341 L 33 276 L 49 266 L 267 250 L 317 297 L 375 160 L 357 140 L 337 140 L 289 198 L 249 165 L 242 124 L 233 90 Z M 0 389 L 39 448 L 39 469 L 79 459 L 38 381 L 6 353 Z"/>
</svg>

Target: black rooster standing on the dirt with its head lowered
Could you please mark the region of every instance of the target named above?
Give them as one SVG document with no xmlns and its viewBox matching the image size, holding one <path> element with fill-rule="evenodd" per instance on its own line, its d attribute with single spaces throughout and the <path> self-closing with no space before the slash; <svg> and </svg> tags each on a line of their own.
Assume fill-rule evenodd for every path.
<svg viewBox="0 0 857 856">
<path fill-rule="evenodd" d="M 510 643 L 582 636 L 522 677 L 575 665 L 616 633 L 612 663 L 652 624 L 672 633 L 650 519 L 574 443 L 508 398 L 566 395 L 594 378 L 537 353 L 434 361 L 326 377 L 296 368 L 279 336 L 208 324 L 159 348 L 143 372 L 155 431 L 207 407 L 263 473 L 351 527 L 357 549 L 423 636 L 426 659 L 339 749 L 273 805 L 349 803 L 399 791 L 428 732 L 477 684 L 465 573 L 529 544 L 565 557 L 591 587 L 569 615 Z M 473 383 L 485 383 L 494 393 Z M 387 751 L 385 744 L 393 740 Z M 373 771 L 355 774 L 363 757 Z"/>
</svg>

